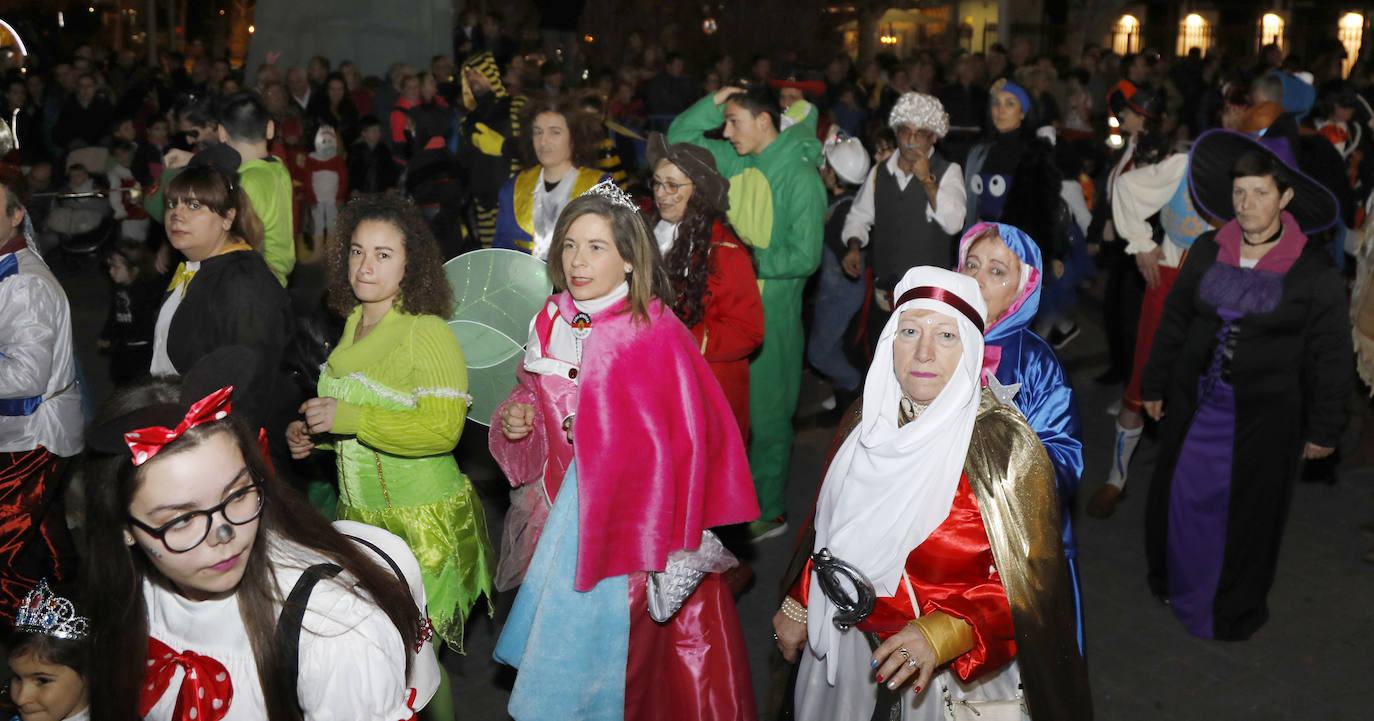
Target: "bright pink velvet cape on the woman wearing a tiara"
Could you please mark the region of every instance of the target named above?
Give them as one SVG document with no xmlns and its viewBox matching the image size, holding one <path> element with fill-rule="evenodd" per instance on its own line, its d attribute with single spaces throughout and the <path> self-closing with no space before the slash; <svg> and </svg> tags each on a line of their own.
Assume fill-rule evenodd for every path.
<svg viewBox="0 0 1374 721">
<path fill-rule="evenodd" d="M 577 314 L 567 293 L 550 302 L 555 323 Z M 730 402 L 691 332 L 661 302 L 650 304 L 647 323 L 625 301 L 592 316 L 578 383 L 573 588 L 661 571 L 668 553 L 699 547 L 702 530 L 758 518 Z"/>
</svg>

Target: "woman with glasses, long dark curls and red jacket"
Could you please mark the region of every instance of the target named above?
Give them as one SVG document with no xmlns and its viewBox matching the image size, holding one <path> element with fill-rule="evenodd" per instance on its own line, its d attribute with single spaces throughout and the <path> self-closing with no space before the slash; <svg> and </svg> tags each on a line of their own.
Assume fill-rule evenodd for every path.
<svg viewBox="0 0 1374 721">
<path fill-rule="evenodd" d="M 691 330 L 720 380 L 739 433 L 749 428 L 749 356 L 764 341 L 753 257 L 725 220 L 730 181 L 710 152 L 649 136 L 654 229 L 673 286 L 673 313 Z"/>
</svg>

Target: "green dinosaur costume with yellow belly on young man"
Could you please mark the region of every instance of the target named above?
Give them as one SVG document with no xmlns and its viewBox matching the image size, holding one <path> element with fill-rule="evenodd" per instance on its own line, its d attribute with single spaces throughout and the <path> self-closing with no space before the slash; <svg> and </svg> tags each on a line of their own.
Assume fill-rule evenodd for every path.
<svg viewBox="0 0 1374 721">
<path fill-rule="evenodd" d="M 749 364 L 749 468 L 760 518 L 783 515 L 791 416 L 801 386 L 801 288 L 820 265 L 826 187 L 816 172 L 820 141 L 815 117 L 787 128 L 757 155 L 739 155 L 706 130 L 724 122 L 710 95 L 668 129 L 669 143 L 701 146 L 730 179 L 730 222 L 753 246 L 764 299 L 764 345 Z"/>
</svg>

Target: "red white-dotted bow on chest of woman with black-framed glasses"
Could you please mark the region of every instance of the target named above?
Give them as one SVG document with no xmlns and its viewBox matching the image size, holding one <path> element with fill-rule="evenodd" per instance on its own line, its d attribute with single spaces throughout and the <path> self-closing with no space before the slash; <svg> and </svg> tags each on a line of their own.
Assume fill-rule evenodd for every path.
<svg viewBox="0 0 1374 721">
<path fill-rule="evenodd" d="M 210 656 L 183 651 L 177 654 L 168 644 L 148 637 L 148 667 L 143 672 L 139 694 L 139 716 L 147 716 L 172 683 L 176 669 L 185 669 L 177 692 L 172 718 L 177 721 L 220 721 L 229 713 L 234 684 L 223 663 Z"/>
</svg>

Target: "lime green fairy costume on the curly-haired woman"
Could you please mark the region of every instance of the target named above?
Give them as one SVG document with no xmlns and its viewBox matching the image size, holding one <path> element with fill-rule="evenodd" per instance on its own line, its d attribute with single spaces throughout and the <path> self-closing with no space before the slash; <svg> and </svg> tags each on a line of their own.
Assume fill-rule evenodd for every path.
<svg viewBox="0 0 1374 721">
<path fill-rule="evenodd" d="M 349 314 L 319 383 L 320 397 L 338 400 L 338 518 L 409 544 L 434 630 L 462 650 L 495 569 L 481 500 L 452 453 L 470 401 L 463 350 L 438 316 L 398 308 L 354 342 L 361 316 L 361 306 Z"/>
</svg>

